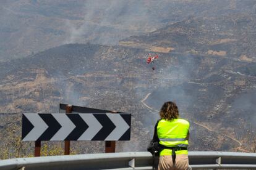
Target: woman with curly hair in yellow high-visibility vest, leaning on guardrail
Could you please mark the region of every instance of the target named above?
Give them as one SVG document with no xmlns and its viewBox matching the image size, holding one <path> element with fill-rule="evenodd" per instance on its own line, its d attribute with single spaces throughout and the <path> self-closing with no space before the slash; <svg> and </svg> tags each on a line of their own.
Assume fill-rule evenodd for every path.
<svg viewBox="0 0 256 170">
<path fill-rule="evenodd" d="M 160 118 L 157 135 L 163 150 L 160 152 L 158 169 L 188 169 L 189 122 L 179 118 L 179 110 L 174 102 L 163 104 Z"/>
</svg>

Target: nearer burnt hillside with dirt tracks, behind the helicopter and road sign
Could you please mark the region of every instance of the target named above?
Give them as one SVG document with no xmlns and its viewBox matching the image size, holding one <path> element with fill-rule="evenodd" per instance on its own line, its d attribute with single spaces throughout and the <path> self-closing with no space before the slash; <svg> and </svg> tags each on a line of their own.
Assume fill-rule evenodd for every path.
<svg viewBox="0 0 256 170">
<path fill-rule="evenodd" d="M 190 150 L 250 152 L 254 25 L 248 14 L 192 17 L 119 45 L 66 44 L 1 62 L 1 147 L 8 143 L 5 130 L 20 127 L 20 113 L 54 113 L 59 103 L 70 103 L 132 113 L 132 139 L 117 151 L 142 151 L 161 105 L 173 100 L 190 121 Z M 154 71 L 145 62 L 148 52 L 160 56 Z M 102 152 L 103 144 L 72 145 L 84 153 Z"/>
</svg>

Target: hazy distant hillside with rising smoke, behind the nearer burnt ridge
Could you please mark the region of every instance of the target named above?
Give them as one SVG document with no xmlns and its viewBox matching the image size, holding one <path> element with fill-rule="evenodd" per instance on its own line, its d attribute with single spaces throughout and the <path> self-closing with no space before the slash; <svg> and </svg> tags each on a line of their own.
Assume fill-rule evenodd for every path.
<svg viewBox="0 0 256 170">
<path fill-rule="evenodd" d="M 1 1 L 0 61 L 69 43 L 118 44 L 189 17 L 255 14 L 254 0 Z"/>
</svg>

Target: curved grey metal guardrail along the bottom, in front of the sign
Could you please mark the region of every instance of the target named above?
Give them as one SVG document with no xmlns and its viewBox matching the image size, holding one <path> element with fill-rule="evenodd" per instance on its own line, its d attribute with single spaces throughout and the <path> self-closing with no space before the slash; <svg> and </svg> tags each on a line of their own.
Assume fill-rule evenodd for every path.
<svg viewBox="0 0 256 170">
<path fill-rule="evenodd" d="M 192 169 L 256 169 L 256 153 L 189 152 Z M 16 169 L 153 169 L 149 152 L 16 158 L 0 161 L 1 170 Z"/>
</svg>

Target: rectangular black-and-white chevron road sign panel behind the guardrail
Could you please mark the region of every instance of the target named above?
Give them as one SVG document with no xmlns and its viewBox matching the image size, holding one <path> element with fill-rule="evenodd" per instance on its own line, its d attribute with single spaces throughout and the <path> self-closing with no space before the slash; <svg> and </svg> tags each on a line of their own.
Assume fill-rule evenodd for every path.
<svg viewBox="0 0 256 170">
<path fill-rule="evenodd" d="M 130 113 L 23 113 L 22 140 L 130 140 Z"/>
</svg>

